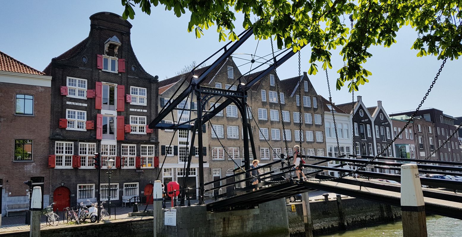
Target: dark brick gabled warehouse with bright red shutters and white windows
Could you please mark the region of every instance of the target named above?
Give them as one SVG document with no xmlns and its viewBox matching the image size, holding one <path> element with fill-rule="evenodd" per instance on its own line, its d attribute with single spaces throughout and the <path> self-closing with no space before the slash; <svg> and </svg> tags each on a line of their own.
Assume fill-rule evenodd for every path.
<svg viewBox="0 0 462 237">
<path fill-rule="evenodd" d="M 56 208 L 111 196 L 120 204 L 150 195 L 158 174 L 157 130 L 146 127 L 158 113 L 158 81 L 136 59 L 132 25 L 110 12 L 90 17 L 90 34 L 52 59 L 49 143 L 50 202 Z M 94 153 L 102 157 L 101 187 Z M 108 187 L 106 160 L 116 160 Z M 109 191 L 110 190 L 110 191 Z"/>
</svg>

